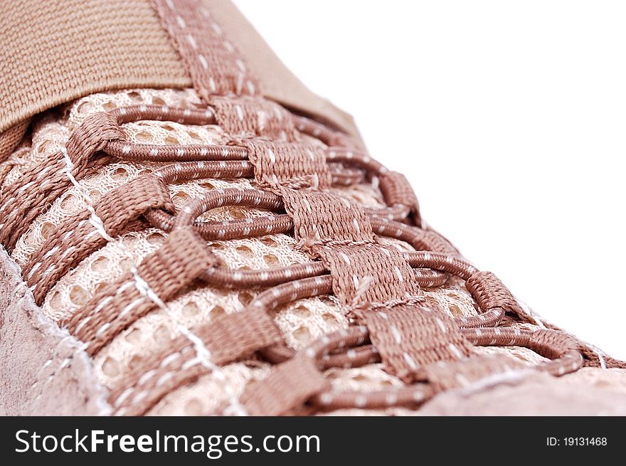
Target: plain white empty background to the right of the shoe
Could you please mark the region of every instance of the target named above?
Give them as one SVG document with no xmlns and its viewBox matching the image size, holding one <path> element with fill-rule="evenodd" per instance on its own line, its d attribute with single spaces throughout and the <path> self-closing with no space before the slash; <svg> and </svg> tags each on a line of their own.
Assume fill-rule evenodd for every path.
<svg viewBox="0 0 626 466">
<path fill-rule="evenodd" d="M 626 359 L 626 4 L 235 0 L 425 219 Z"/>
</svg>

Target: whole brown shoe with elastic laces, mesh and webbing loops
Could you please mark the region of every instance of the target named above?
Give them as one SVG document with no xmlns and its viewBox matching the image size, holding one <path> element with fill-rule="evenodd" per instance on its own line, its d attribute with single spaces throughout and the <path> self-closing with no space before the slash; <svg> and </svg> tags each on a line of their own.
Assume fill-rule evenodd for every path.
<svg viewBox="0 0 626 466">
<path fill-rule="evenodd" d="M 4 10 L 6 413 L 626 414 L 228 2 Z"/>
</svg>

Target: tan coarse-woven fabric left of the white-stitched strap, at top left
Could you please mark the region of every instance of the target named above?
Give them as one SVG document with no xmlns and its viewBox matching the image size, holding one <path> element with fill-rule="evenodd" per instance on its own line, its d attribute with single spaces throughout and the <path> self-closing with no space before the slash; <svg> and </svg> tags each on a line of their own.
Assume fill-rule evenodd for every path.
<svg viewBox="0 0 626 466">
<path fill-rule="evenodd" d="M 0 131 L 91 92 L 188 87 L 143 0 L 3 0 Z"/>
</svg>

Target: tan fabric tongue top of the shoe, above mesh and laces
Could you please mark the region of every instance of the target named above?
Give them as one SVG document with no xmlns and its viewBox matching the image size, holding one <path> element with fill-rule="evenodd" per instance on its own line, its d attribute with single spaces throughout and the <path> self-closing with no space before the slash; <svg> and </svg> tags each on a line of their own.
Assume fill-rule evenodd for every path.
<svg viewBox="0 0 626 466">
<path fill-rule="evenodd" d="M 358 134 L 349 115 L 287 70 L 230 1 L 48 0 L 9 2 L 0 15 L 0 147 L 56 105 L 112 89 L 197 89 L 194 68 L 211 78 L 228 60 L 253 75 L 257 94 Z"/>
</svg>

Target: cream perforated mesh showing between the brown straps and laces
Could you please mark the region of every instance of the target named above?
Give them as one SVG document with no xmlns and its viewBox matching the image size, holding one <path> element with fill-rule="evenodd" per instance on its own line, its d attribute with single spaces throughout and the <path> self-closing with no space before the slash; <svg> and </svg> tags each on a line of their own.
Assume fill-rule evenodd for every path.
<svg viewBox="0 0 626 466">
<path fill-rule="evenodd" d="M 46 157 L 58 152 L 65 145 L 70 132 L 95 112 L 112 110 L 137 104 L 169 105 L 171 107 L 194 107 L 200 100 L 193 90 L 129 90 L 90 95 L 68 105 L 62 115 L 43 118 L 33 131 L 31 149 L 18 149 L 9 162 L 3 164 L 6 186 L 11 184 L 25 169 L 39 164 Z M 173 122 L 137 122 L 124 125 L 129 140 L 146 144 L 225 144 L 228 137 L 216 126 L 180 125 Z M 315 144 L 319 144 L 312 140 Z M 90 201 L 96 201 L 103 194 L 129 179 L 152 171 L 157 164 L 115 163 L 105 166 L 89 178 L 80 181 L 83 193 Z M 176 207 L 180 208 L 190 198 L 201 196 L 211 189 L 226 187 L 251 187 L 248 180 L 203 179 L 169 186 Z M 367 207 L 384 206 L 378 189 L 369 184 L 336 189 L 341 194 L 354 198 Z M 78 189 L 72 187 L 60 196 L 48 210 L 38 216 L 28 232 L 16 245 L 12 255 L 23 265 L 28 258 L 43 245 L 51 231 L 69 218 L 83 211 L 87 200 Z M 263 211 L 227 207 L 218 208 L 203 215 L 205 219 L 233 220 L 265 215 Z M 43 312 L 54 321 L 60 321 L 73 314 L 87 300 L 93 297 L 100 287 L 114 282 L 137 265 L 149 253 L 159 247 L 166 233 L 150 228 L 146 231 L 127 233 L 104 248 L 83 260 L 74 270 L 65 275 L 48 293 L 43 303 Z M 410 245 L 398 240 L 382 239 L 383 243 L 394 245 L 400 250 L 412 250 Z M 308 258 L 295 248 L 295 240 L 288 235 L 267 235 L 261 238 L 214 241 L 212 250 L 232 269 L 267 269 L 295 263 L 304 263 Z M 95 374 L 107 387 L 120 382 L 142 359 L 156 353 L 169 344 L 178 334 L 175 322 L 193 327 L 208 323 L 221 314 L 240 312 L 253 300 L 259 290 L 227 290 L 215 287 L 196 287 L 184 292 L 176 300 L 169 302 L 171 312 L 154 311 L 135 322 L 132 327 L 119 334 L 94 359 Z M 474 301 L 460 280 L 452 279 L 446 287 L 424 290 L 426 299 L 453 316 L 477 314 Z M 348 319 L 332 296 L 299 300 L 277 309 L 275 322 L 282 330 L 287 344 L 295 349 L 306 346 L 322 334 L 347 327 Z M 540 361 L 541 356 L 526 349 L 478 349 L 482 352 L 506 351 L 528 363 Z M 225 381 L 219 381 L 211 374 L 203 376 L 189 386 L 170 393 L 155 406 L 151 414 L 200 414 L 211 413 L 226 401 L 225 383 L 235 393 L 243 391 L 245 383 L 264 376 L 269 366 L 258 361 L 230 364 L 223 369 Z M 337 389 L 373 390 L 400 386 L 398 378 L 383 371 L 380 364 L 369 364 L 359 369 L 331 369 L 327 377 Z M 393 408 L 381 411 L 347 410 L 340 414 L 407 414 L 410 410 Z"/>
</svg>

